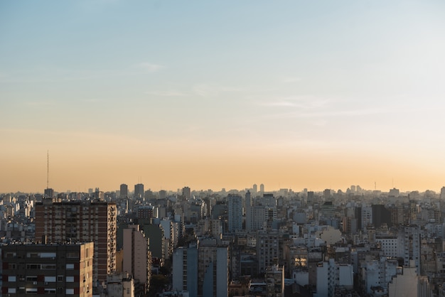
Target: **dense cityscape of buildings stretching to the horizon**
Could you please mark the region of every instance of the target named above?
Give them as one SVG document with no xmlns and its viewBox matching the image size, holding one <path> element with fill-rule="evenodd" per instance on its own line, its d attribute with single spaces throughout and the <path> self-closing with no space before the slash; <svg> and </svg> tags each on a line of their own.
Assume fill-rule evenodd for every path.
<svg viewBox="0 0 445 297">
<path fill-rule="evenodd" d="M 4 294 L 444 296 L 445 187 L 4 193 Z"/>
</svg>

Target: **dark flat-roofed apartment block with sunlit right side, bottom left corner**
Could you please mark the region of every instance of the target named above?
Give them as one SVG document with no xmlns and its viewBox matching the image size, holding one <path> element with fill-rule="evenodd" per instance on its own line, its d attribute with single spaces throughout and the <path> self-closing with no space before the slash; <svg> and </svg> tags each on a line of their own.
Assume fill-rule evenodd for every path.
<svg viewBox="0 0 445 297">
<path fill-rule="evenodd" d="M 1 246 L 3 296 L 92 296 L 94 244 Z"/>
</svg>

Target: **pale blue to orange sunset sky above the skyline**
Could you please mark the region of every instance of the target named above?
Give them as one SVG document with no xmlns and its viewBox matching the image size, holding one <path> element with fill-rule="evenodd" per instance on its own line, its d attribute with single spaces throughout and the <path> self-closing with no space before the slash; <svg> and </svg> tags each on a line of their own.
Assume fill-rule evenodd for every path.
<svg viewBox="0 0 445 297">
<path fill-rule="evenodd" d="M 0 193 L 439 191 L 445 2 L 0 1 Z M 47 168 L 47 153 L 49 166 Z"/>
</svg>

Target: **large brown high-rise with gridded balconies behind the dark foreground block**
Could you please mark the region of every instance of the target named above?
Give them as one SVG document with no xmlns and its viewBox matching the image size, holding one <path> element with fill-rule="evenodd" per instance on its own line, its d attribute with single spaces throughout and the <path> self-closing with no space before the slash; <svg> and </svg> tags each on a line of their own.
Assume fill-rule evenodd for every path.
<svg viewBox="0 0 445 297">
<path fill-rule="evenodd" d="M 94 242 L 93 284 L 116 270 L 116 204 L 103 201 L 36 203 L 36 239 Z"/>
</svg>

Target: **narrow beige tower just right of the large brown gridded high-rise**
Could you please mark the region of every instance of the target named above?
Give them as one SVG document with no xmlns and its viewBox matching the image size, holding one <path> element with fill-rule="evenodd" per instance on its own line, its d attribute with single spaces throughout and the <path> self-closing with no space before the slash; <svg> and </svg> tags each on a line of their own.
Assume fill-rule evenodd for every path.
<svg viewBox="0 0 445 297">
<path fill-rule="evenodd" d="M 143 288 L 149 291 L 151 276 L 151 252 L 149 239 L 139 230 L 139 225 L 124 229 L 124 263 L 122 269 L 133 276 Z"/>
</svg>

